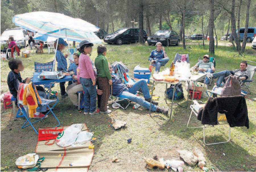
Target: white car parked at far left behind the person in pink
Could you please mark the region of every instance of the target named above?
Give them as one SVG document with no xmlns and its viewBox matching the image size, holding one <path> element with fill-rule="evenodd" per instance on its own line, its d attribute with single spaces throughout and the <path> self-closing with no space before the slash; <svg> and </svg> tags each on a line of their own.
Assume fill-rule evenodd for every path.
<svg viewBox="0 0 256 172">
<path fill-rule="evenodd" d="M 10 36 L 13 36 L 16 44 L 19 44 L 23 47 L 26 47 L 28 45 L 29 36 L 26 30 L 22 29 L 21 27 L 6 29 L 5 31 L 3 31 L 1 35 L 1 44 L 7 44 L 7 40 L 9 39 Z"/>
</svg>

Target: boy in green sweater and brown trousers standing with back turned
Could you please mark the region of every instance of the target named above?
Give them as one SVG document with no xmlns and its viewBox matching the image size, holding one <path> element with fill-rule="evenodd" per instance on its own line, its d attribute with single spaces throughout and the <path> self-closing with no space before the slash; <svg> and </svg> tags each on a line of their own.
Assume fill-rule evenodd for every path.
<svg viewBox="0 0 256 172">
<path fill-rule="evenodd" d="M 106 57 L 107 48 L 104 45 L 99 45 L 97 52 L 98 56 L 96 57 L 94 64 L 97 69 L 98 89 L 103 91 L 102 95 L 98 95 L 98 101 L 100 101 L 100 113 L 107 114 L 112 112 L 107 109 L 110 95 L 109 85 L 112 85 L 112 77 L 108 69 L 108 60 Z"/>
</svg>

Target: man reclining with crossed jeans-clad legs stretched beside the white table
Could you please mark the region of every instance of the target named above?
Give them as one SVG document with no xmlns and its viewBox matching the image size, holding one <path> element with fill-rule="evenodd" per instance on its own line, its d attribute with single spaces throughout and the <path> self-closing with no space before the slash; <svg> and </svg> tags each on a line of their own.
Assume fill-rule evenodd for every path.
<svg viewBox="0 0 256 172">
<path fill-rule="evenodd" d="M 146 80 L 141 79 L 141 80 L 135 82 L 133 85 L 124 84 L 122 82 L 121 78 L 119 78 L 115 74 L 112 74 L 112 66 L 108 65 L 108 67 L 109 67 L 109 71 L 112 76 L 112 94 L 113 94 L 113 96 L 117 96 L 120 98 L 127 98 L 133 102 L 140 104 L 144 108 L 149 109 L 151 96 L 148 91 L 148 85 L 147 85 Z M 145 100 L 142 97 L 135 95 L 140 88 L 142 89 Z M 111 88 L 110 88 L 110 92 L 111 92 Z M 98 89 L 97 94 L 101 95 L 102 90 Z M 164 113 L 166 115 L 168 114 L 168 109 L 158 107 L 157 105 L 158 105 L 158 102 L 155 102 L 154 100 L 152 100 L 151 111 L 156 111 L 158 113 Z"/>
</svg>

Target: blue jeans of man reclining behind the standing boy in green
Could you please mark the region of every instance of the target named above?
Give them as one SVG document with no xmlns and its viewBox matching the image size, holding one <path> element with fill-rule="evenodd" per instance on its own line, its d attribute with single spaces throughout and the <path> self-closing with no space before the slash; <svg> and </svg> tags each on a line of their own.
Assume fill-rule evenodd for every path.
<svg viewBox="0 0 256 172">
<path fill-rule="evenodd" d="M 144 108 L 149 109 L 150 102 L 147 102 L 142 97 L 135 95 L 140 88 L 142 89 L 142 93 L 145 99 L 151 98 L 148 91 L 148 85 L 145 79 L 141 79 L 135 82 L 131 88 L 128 88 L 127 91 L 123 91 L 117 97 L 128 98 L 129 100 L 140 104 Z M 151 104 L 151 111 L 156 111 L 156 109 L 157 109 L 157 106 L 154 104 Z"/>
</svg>

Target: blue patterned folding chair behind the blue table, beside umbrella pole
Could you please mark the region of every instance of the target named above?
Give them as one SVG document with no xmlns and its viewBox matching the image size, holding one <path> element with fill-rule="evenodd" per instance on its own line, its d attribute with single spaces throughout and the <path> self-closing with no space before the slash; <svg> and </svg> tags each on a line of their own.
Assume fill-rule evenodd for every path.
<svg viewBox="0 0 256 172">
<path fill-rule="evenodd" d="M 42 72 L 43 70 L 44 71 L 52 71 L 53 61 L 48 62 L 48 63 L 34 62 L 34 65 L 35 65 L 35 72 Z M 44 90 L 46 91 L 47 96 L 50 94 L 50 96 L 57 98 L 55 96 L 55 94 L 49 93 L 50 88 L 52 88 L 53 86 L 54 86 L 54 84 L 44 84 Z"/>
</svg>

